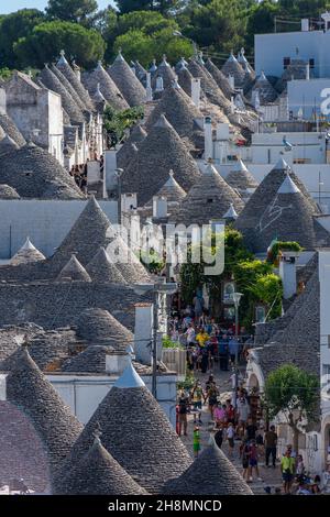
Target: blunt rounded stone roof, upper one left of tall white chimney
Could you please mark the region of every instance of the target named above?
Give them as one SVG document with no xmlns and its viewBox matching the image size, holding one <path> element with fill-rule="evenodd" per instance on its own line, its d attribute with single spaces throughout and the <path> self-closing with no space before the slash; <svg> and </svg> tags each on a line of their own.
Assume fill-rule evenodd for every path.
<svg viewBox="0 0 330 517">
<path fill-rule="evenodd" d="M 77 336 L 89 344 L 107 344 L 125 352 L 133 342 L 132 332 L 123 327 L 108 310 L 86 309 L 76 320 Z"/>
</svg>

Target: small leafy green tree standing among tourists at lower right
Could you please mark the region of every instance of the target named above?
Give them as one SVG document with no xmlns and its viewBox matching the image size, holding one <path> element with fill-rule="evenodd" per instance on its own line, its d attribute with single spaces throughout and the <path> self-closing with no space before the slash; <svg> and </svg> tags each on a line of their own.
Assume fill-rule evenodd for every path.
<svg viewBox="0 0 330 517">
<path fill-rule="evenodd" d="M 304 418 L 309 422 L 317 418 L 319 380 L 316 375 L 284 364 L 272 372 L 265 384 L 265 402 L 270 417 L 282 413 L 294 436 L 294 450 L 298 452 L 299 424 Z"/>
</svg>

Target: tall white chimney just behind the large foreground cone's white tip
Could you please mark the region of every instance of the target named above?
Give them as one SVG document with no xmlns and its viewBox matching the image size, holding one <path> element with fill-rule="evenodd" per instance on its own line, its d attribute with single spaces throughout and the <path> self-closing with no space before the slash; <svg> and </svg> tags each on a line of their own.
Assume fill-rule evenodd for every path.
<svg viewBox="0 0 330 517">
<path fill-rule="evenodd" d="M 153 305 L 135 305 L 134 350 L 135 359 L 142 364 L 152 363 Z"/>
</svg>

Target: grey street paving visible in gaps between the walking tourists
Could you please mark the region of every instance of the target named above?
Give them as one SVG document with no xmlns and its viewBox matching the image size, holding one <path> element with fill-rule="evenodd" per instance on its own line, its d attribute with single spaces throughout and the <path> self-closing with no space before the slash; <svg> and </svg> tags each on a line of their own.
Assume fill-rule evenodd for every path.
<svg viewBox="0 0 330 517">
<path fill-rule="evenodd" d="M 232 374 L 231 371 L 229 372 L 222 372 L 219 370 L 218 365 L 216 364 L 216 367 L 212 372 L 209 372 L 207 374 L 202 374 L 200 372 L 195 373 L 196 380 L 199 380 L 201 382 L 201 385 L 205 387 L 205 383 L 207 382 L 210 373 L 215 376 L 217 386 L 220 391 L 220 397 L 221 400 L 226 400 L 227 398 L 230 398 L 231 396 L 231 380 L 230 376 Z M 198 418 L 197 418 L 198 419 Z M 201 420 L 202 425 L 200 425 L 200 444 L 201 444 L 201 450 L 208 444 L 208 441 L 210 439 L 210 433 L 213 429 L 213 422 L 211 421 L 211 416 L 208 409 L 208 405 L 202 406 L 202 415 L 201 415 Z M 194 414 L 188 415 L 188 430 L 187 430 L 188 436 L 182 436 L 182 440 L 187 447 L 189 453 L 191 457 L 194 457 L 194 451 L 193 451 L 193 435 L 194 435 Z M 240 459 L 240 440 L 235 440 L 234 442 L 234 453 L 233 453 L 233 459 L 231 460 L 233 465 L 238 469 L 240 473 L 242 473 L 242 461 Z M 222 444 L 222 451 L 228 455 L 228 441 L 224 440 Z M 265 494 L 264 488 L 266 486 L 272 487 L 272 493 L 274 494 L 275 487 L 282 487 L 282 476 L 280 476 L 280 471 L 279 471 L 279 463 L 277 462 L 276 469 L 265 468 L 265 457 L 264 454 L 260 455 L 258 459 L 258 468 L 260 468 L 260 474 L 261 479 L 263 481 L 256 481 L 256 476 L 254 475 L 253 482 L 250 483 L 251 490 L 255 494 Z"/>
</svg>

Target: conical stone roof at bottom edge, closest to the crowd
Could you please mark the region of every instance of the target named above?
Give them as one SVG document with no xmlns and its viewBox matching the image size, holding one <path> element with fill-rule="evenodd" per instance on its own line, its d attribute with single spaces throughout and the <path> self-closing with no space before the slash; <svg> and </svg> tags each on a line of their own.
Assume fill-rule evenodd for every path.
<svg viewBox="0 0 330 517">
<path fill-rule="evenodd" d="M 201 451 L 186 472 L 167 483 L 163 493 L 213 496 L 252 495 L 250 486 L 215 441 Z"/>
</svg>

